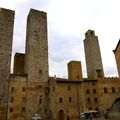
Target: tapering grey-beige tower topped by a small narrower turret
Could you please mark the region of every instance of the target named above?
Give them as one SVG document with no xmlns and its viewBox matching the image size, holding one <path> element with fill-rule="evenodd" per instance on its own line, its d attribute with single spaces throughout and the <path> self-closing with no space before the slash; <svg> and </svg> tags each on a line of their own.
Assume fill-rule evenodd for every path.
<svg viewBox="0 0 120 120">
<path fill-rule="evenodd" d="M 93 30 L 85 33 L 84 50 L 88 78 L 104 77 L 98 37 Z"/>
</svg>

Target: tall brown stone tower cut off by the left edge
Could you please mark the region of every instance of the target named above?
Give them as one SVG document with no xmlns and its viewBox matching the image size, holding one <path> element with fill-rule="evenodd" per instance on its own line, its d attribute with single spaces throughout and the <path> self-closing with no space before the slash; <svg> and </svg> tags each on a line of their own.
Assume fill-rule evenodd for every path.
<svg viewBox="0 0 120 120">
<path fill-rule="evenodd" d="M 14 11 L 0 8 L 0 119 L 6 120 Z"/>
</svg>

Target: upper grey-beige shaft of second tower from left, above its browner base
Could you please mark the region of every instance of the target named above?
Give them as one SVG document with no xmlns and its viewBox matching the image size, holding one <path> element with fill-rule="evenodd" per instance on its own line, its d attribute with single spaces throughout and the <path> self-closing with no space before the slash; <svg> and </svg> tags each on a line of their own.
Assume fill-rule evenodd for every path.
<svg viewBox="0 0 120 120">
<path fill-rule="evenodd" d="M 29 82 L 48 80 L 47 14 L 31 9 L 27 18 L 25 72 Z"/>
</svg>

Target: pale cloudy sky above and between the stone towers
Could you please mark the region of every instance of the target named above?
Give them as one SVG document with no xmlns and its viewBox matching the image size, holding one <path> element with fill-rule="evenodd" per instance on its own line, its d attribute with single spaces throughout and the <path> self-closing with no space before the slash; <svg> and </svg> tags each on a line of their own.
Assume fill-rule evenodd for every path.
<svg viewBox="0 0 120 120">
<path fill-rule="evenodd" d="M 0 7 L 15 10 L 13 56 L 23 52 L 30 8 L 48 14 L 49 71 L 67 77 L 70 60 L 86 65 L 83 40 L 88 29 L 99 38 L 105 76 L 118 76 L 112 50 L 120 38 L 120 0 L 0 0 Z"/>
</svg>

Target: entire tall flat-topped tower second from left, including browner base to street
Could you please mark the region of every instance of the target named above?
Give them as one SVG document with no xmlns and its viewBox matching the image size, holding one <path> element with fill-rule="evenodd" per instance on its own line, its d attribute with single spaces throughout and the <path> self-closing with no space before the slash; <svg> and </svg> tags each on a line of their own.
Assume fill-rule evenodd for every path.
<svg viewBox="0 0 120 120">
<path fill-rule="evenodd" d="M 44 87 L 48 81 L 47 14 L 34 9 L 27 18 L 25 73 L 28 75 L 27 119 L 31 119 L 45 110 Z"/>
</svg>

